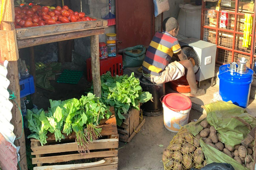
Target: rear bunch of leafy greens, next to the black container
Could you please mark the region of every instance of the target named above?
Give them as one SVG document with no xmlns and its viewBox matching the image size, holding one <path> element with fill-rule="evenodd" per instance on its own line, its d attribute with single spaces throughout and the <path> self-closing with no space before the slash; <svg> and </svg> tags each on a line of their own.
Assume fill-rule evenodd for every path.
<svg viewBox="0 0 256 170">
<path fill-rule="evenodd" d="M 148 91 L 142 91 L 140 81 L 134 77 L 133 72 L 130 77 L 112 77 L 110 72 L 101 75 L 101 97 L 105 99 L 106 105 L 114 106 L 118 126 L 121 126 L 125 119 L 122 114 L 126 114 L 131 107 L 139 109 L 140 103 L 152 99 Z"/>
</svg>

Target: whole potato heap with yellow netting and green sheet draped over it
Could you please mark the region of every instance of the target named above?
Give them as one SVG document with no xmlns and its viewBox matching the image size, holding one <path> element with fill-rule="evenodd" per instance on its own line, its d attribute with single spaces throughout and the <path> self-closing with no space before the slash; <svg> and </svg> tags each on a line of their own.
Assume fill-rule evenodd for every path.
<svg viewBox="0 0 256 170">
<path fill-rule="evenodd" d="M 244 141 L 256 118 L 231 102 L 217 101 L 203 108 L 207 117 L 183 126 L 163 151 L 165 170 L 200 169 L 211 163 L 254 169 L 254 141 Z"/>
</svg>

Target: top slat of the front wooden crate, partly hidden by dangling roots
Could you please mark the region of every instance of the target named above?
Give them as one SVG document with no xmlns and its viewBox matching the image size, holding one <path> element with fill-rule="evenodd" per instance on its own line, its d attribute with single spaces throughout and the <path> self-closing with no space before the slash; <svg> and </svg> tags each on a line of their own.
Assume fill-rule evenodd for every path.
<svg viewBox="0 0 256 170">
<path fill-rule="evenodd" d="M 35 142 L 35 141 L 31 141 Z M 118 148 L 118 139 L 100 139 L 93 143 L 89 143 L 88 148 L 91 150 L 95 149 L 110 149 Z M 62 143 L 56 145 L 44 145 L 44 146 L 31 146 L 31 155 L 41 154 L 53 154 L 59 152 L 77 151 L 77 142 Z"/>
</svg>

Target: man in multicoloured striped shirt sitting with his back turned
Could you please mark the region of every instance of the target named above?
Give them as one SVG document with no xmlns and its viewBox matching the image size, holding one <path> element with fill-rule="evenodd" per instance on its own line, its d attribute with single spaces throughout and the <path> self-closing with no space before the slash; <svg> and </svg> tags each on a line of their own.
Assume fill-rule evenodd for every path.
<svg viewBox="0 0 256 170">
<path fill-rule="evenodd" d="M 153 83 L 165 83 L 186 75 L 190 86 L 191 97 L 205 94 L 204 89 L 198 89 L 193 64 L 181 50 L 179 41 L 175 38 L 179 32 L 179 23 L 175 18 L 166 18 L 163 21 L 163 32 L 156 32 L 151 41 L 145 60 L 142 64 L 142 73 Z M 180 61 L 172 62 L 172 56 L 179 57 Z"/>
</svg>

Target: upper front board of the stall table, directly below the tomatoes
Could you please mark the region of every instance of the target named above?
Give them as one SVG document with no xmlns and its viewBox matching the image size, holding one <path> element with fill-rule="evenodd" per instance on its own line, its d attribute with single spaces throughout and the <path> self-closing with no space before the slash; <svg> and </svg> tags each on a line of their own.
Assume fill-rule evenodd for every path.
<svg viewBox="0 0 256 170">
<path fill-rule="evenodd" d="M 101 28 L 106 28 L 106 26 L 103 26 L 103 20 L 97 19 L 96 21 L 70 22 L 44 25 L 42 27 L 19 28 L 16 29 L 16 34 L 17 39 L 28 39 Z"/>
</svg>

